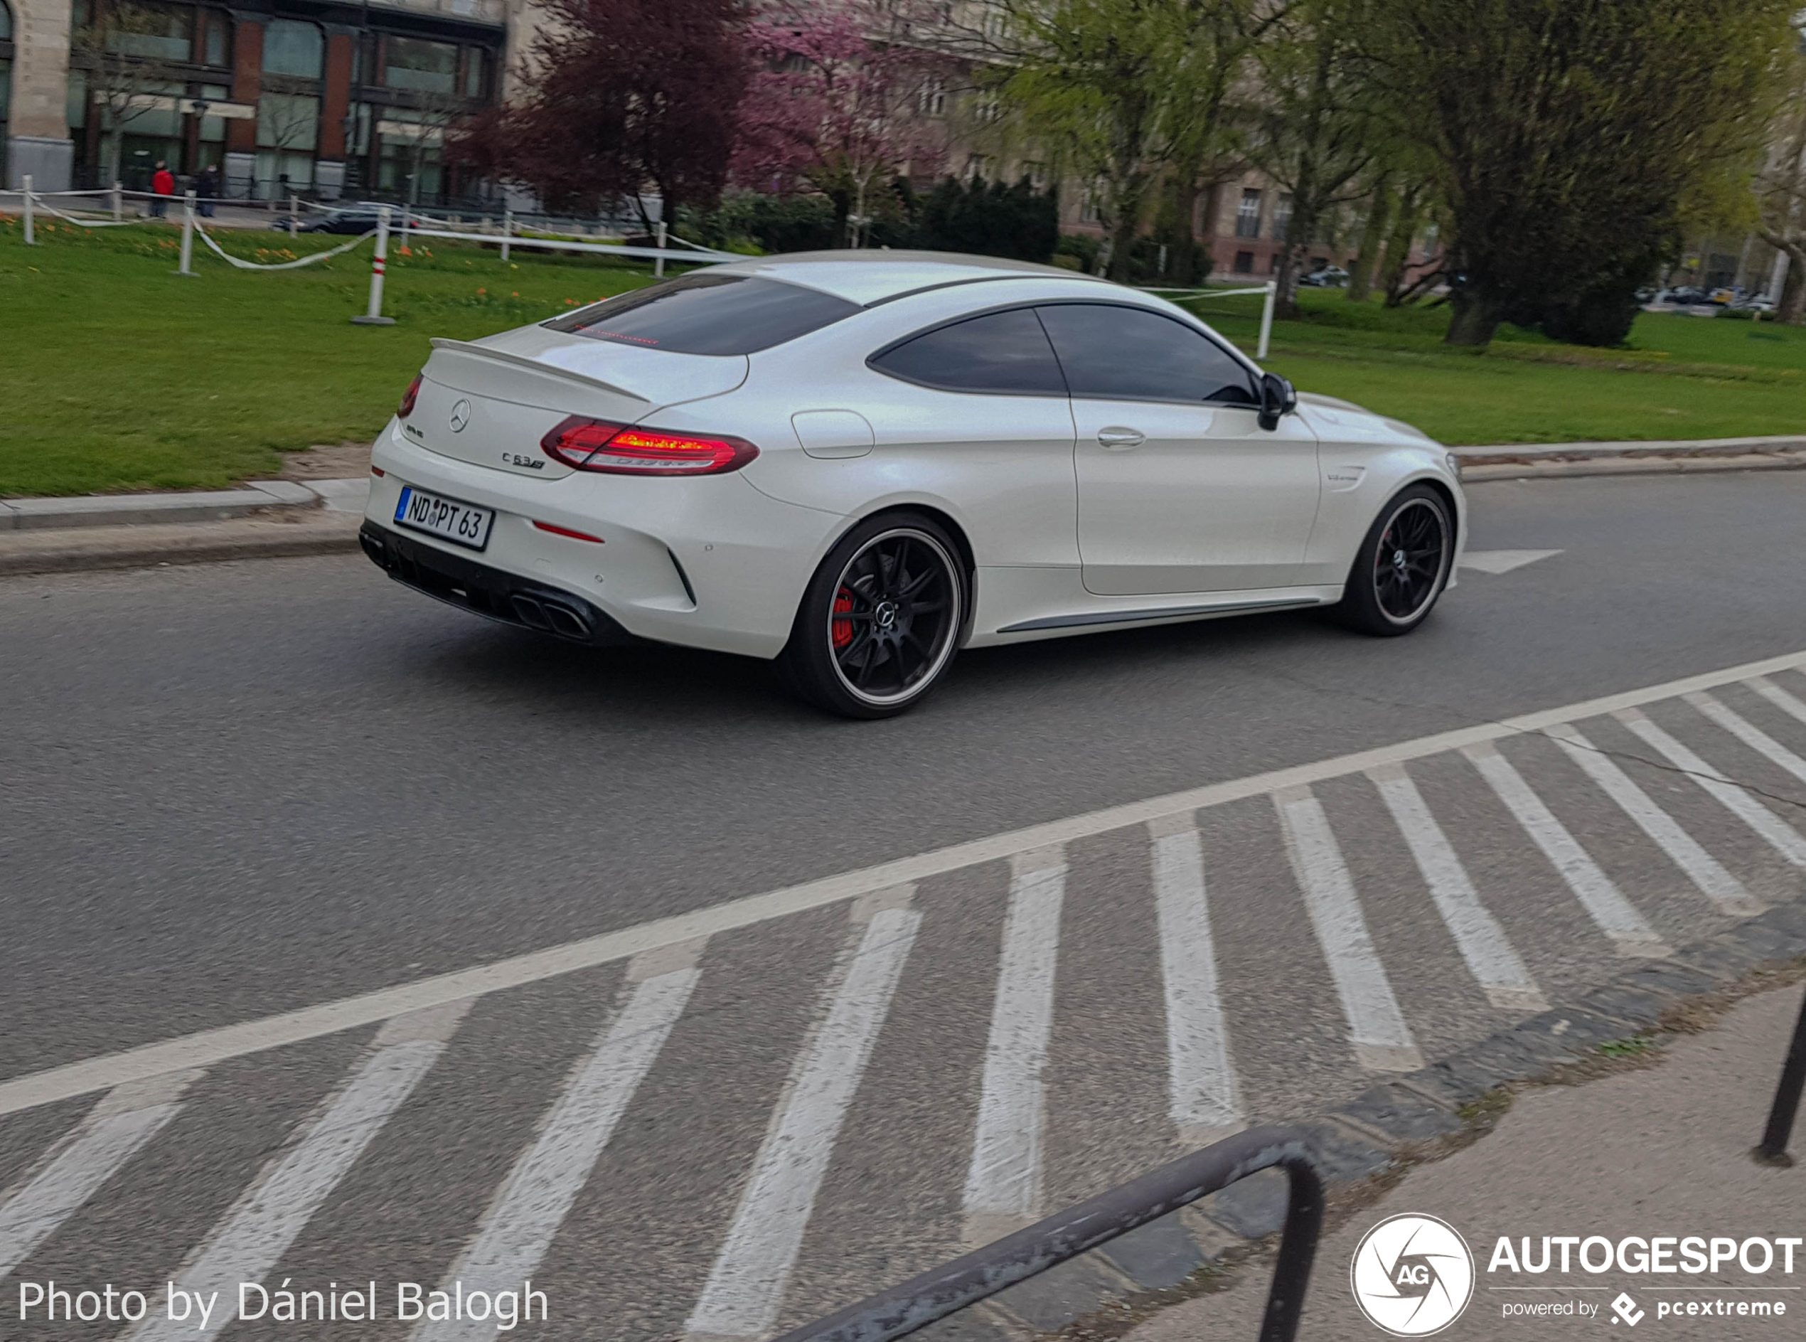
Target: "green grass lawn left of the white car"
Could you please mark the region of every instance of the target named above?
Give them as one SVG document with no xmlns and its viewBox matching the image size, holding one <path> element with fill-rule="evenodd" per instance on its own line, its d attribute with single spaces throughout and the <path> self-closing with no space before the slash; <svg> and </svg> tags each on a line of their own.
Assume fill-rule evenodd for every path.
<svg viewBox="0 0 1806 1342">
<path fill-rule="evenodd" d="M 43 226 L 40 226 L 43 228 Z M 222 244 L 253 260 L 273 233 Z M 0 224 L 0 495 L 220 488 L 278 450 L 374 437 L 430 336 L 475 338 L 648 282 L 643 267 L 439 249 L 390 256 L 394 327 L 354 327 L 370 244 L 300 271 L 204 255 L 175 275 L 175 231 Z M 300 238 L 296 253 L 343 238 Z M 518 253 L 517 253 L 518 255 Z"/>
</svg>

